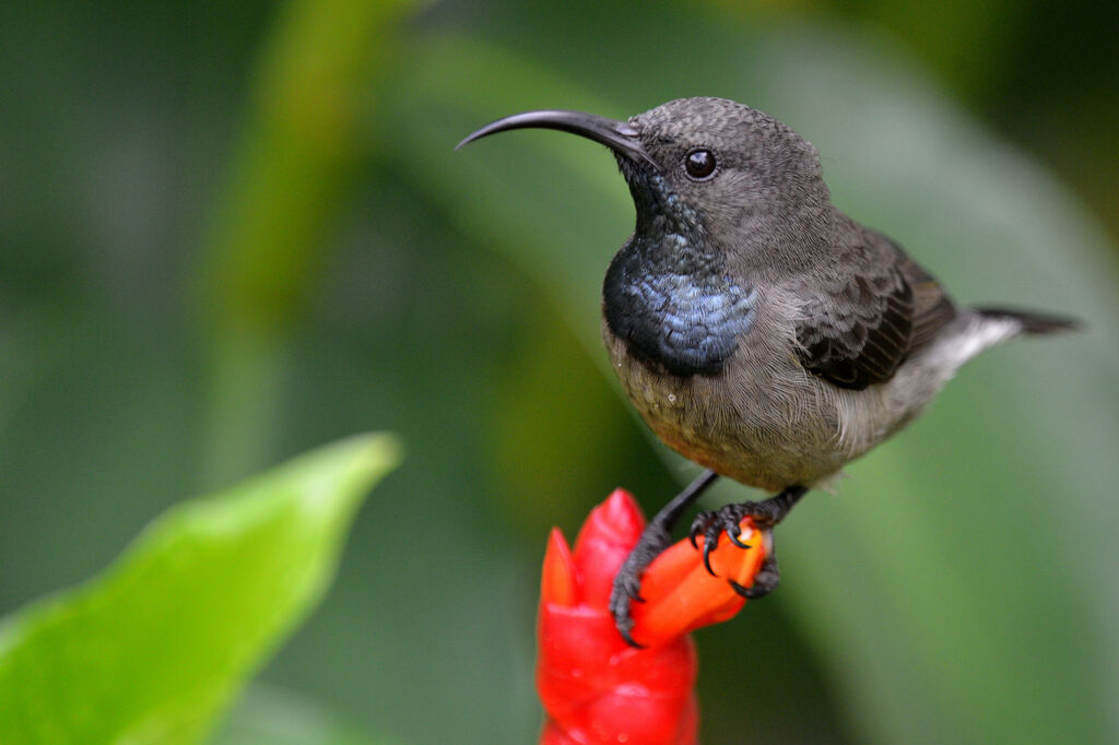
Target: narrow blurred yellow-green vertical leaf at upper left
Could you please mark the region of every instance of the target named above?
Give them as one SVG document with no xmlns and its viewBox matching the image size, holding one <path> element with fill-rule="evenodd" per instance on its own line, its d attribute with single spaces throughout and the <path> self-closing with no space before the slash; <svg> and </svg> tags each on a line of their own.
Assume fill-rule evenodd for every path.
<svg viewBox="0 0 1119 745">
<path fill-rule="evenodd" d="M 391 67 L 395 25 L 415 4 L 295 0 L 261 50 L 197 283 L 211 366 L 209 481 L 239 477 L 269 452 L 289 361 L 283 340 L 368 157 L 363 105 Z"/>
</svg>

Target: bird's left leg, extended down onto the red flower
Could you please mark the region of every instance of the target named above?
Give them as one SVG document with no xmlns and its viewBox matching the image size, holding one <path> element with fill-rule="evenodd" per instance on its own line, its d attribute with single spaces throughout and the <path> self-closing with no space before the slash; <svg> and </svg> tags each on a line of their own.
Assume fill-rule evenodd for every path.
<svg viewBox="0 0 1119 745">
<path fill-rule="evenodd" d="M 668 548 L 671 541 L 673 526 L 680 519 L 680 515 L 692 502 L 699 499 L 699 496 L 715 482 L 718 474 L 714 471 L 704 471 L 699 478 L 684 488 L 684 491 L 665 504 L 657 515 L 645 526 L 637 546 L 626 557 L 626 562 L 618 574 L 614 575 L 614 586 L 610 593 L 610 612 L 614 616 L 614 625 L 631 647 L 640 647 L 630 636 L 630 629 L 633 628 L 633 619 L 630 616 L 629 606 L 631 601 L 643 603 L 641 597 L 641 574 L 652 559 L 657 558 L 661 551 Z"/>
</svg>

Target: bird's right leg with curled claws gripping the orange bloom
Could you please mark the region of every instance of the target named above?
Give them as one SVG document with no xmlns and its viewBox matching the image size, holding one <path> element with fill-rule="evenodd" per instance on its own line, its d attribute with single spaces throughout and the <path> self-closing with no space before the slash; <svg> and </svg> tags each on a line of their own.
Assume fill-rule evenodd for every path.
<svg viewBox="0 0 1119 745">
<path fill-rule="evenodd" d="M 709 556 L 715 550 L 715 547 L 718 546 L 718 537 L 724 531 L 732 544 L 741 548 L 746 548 L 746 545 L 739 539 L 741 532 L 739 524 L 743 518 L 749 517 L 753 520 L 754 527 L 761 531 L 763 539 L 767 541 L 765 559 L 762 562 L 761 569 L 754 576 L 753 584 L 749 587 L 743 587 L 733 579 L 730 583 L 736 593 L 749 600 L 764 597 L 773 592 L 773 588 L 777 587 L 778 582 L 781 579 L 781 573 L 777 567 L 777 554 L 773 551 L 773 526 L 789 515 L 792 506 L 805 496 L 806 491 L 808 491 L 806 487 L 789 487 L 780 493 L 773 494 L 760 502 L 724 504 L 712 512 L 700 512 L 697 515 L 696 519 L 692 522 L 692 530 L 688 532 L 688 538 L 692 539 L 692 545 L 695 546 L 696 536 L 703 535 L 703 563 L 707 567 L 707 572 L 711 572 L 712 576 L 715 576 L 715 573 L 711 568 Z"/>
</svg>

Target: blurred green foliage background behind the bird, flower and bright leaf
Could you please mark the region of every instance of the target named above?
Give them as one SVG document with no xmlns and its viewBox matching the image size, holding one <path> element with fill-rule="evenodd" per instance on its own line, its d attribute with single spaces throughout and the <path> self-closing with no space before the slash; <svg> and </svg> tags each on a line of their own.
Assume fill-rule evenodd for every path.
<svg viewBox="0 0 1119 745">
<path fill-rule="evenodd" d="M 698 634 L 703 742 L 1116 742 L 1117 23 L 1057 0 L 9 3 L 0 613 L 184 497 L 391 430 L 406 461 L 217 739 L 530 742 L 547 528 L 619 484 L 653 511 L 693 469 L 599 346 L 632 226 L 612 159 L 452 148 L 517 111 L 720 95 L 812 141 L 837 204 L 961 302 L 1089 329 L 977 360 L 797 510 L 781 590 Z"/>
</svg>

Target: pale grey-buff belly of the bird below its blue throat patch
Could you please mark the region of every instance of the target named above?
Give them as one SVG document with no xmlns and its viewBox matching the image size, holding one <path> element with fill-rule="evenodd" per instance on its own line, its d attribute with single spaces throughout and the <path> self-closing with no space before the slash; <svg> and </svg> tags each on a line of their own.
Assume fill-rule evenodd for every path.
<svg viewBox="0 0 1119 745">
<path fill-rule="evenodd" d="M 735 365 L 750 364 L 740 358 L 724 374 L 681 378 L 631 358 L 605 328 L 603 340 L 622 388 L 657 436 L 716 473 L 769 491 L 810 487 L 865 450 L 839 436 L 836 400 L 799 368 L 735 375 Z"/>
</svg>

